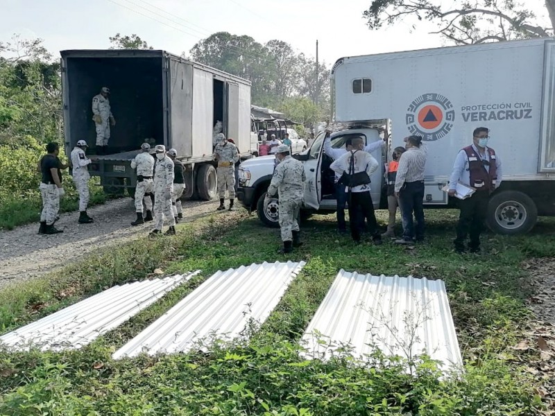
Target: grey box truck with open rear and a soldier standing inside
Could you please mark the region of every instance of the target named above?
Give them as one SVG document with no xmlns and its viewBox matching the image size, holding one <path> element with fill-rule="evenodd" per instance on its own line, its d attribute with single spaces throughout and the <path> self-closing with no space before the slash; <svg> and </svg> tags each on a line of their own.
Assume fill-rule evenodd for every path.
<svg viewBox="0 0 555 416">
<path fill-rule="evenodd" d="M 214 125 L 233 139 L 241 160 L 257 149 L 250 119 L 250 83 L 165 51 L 61 51 L 62 99 L 67 154 L 80 139 L 96 153 L 92 98 L 111 90 L 112 127 L 108 152 L 93 156 L 89 173 L 110 193 L 133 193 L 130 162 L 144 141 L 175 148 L 186 168 L 185 198 L 216 196 L 212 162 Z"/>
</svg>

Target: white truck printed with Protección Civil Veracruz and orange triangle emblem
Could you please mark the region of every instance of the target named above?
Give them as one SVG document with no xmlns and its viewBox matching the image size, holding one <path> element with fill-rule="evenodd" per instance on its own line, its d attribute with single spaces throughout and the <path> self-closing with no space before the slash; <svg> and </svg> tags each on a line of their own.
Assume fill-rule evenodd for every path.
<svg viewBox="0 0 555 416">
<path fill-rule="evenodd" d="M 391 149 L 408 135 L 420 135 L 428 148 L 424 203 L 456 207 L 442 191 L 459 150 L 472 143 L 472 131 L 490 129 L 490 146 L 502 162 L 503 181 L 490 198 L 488 225 L 501 234 L 528 232 L 538 216 L 555 215 L 555 41 L 550 38 L 452 46 L 341 58 L 332 68 L 332 119 L 350 126 L 332 135 L 342 147 L 356 134 L 366 142 L 385 131 L 377 154 L 386 164 Z M 374 125 L 374 127 L 372 127 Z M 379 125 L 381 127 L 377 128 Z M 343 137 L 343 139 L 342 139 Z M 323 132 L 298 159 L 305 164 L 304 209 L 336 209 Z M 239 167 L 239 196 L 257 209 L 266 225 L 277 225 L 279 202 L 260 200 L 273 163 L 260 157 Z M 386 208 L 384 166 L 372 177 L 376 208 Z"/>
</svg>

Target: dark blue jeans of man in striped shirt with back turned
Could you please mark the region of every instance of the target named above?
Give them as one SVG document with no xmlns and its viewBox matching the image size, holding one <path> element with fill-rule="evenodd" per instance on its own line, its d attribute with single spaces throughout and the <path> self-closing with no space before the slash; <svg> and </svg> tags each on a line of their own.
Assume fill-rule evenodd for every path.
<svg viewBox="0 0 555 416">
<path fill-rule="evenodd" d="M 399 192 L 404 241 L 424 239 L 424 181 L 405 182 Z M 414 221 L 413 221 L 414 213 Z M 416 222 L 416 224 L 415 224 Z"/>
</svg>

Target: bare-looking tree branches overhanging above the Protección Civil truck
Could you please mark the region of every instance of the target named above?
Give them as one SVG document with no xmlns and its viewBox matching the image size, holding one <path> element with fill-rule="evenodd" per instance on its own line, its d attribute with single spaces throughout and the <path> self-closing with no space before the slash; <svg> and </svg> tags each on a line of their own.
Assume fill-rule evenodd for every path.
<svg viewBox="0 0 555 416">
<path fill-rule="evenodd" d="M 478 44 L 532 37 L 552 36 L 555 0 L 545 0 L 552 27 L 534 22 L 536 15 L 515 0 L 373 0 L 364 12 L 370 29 L 391 26 L 407 17 L 438 25 L 438 31 L 454 44 Z M 413 25 L 416 28 L 416 24 Z"/>
</svg>

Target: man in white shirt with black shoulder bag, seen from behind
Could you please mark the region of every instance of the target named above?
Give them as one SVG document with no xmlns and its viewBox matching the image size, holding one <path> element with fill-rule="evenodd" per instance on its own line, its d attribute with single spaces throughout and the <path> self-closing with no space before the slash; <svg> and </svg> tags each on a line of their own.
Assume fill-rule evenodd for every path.
<svg viewBox="0 0 555 416">
<path fill-rule="evenodd" d="M 345 186 L 345 193 L 347 193 L 349 198 L 349 217 L 352 239 L 355 240 L 355 243 L 360 243 L 361 221 L 357 220 L 360 210 L 363 218 L 368 220 L 368 226 L 370 227 L 369 232 L 372 235 L 374 244 L 379 245 L 382 243 L 382 236 L 377 232 L 374 204 L 372 202 L 372 196 L 370 196 L 370 176 L 376 171 L 379 164 L 370 153 L 362 150 L 364 148 L 364 139 L 362 139 L 362 137 L 352 139 L 351 144 L 352 150 L 339 157 L 339 159 L 336 159 L 331 164 L 330 168 L 339 175 L 339 177 L 342 177 L 343 173 L 349 175 L 348 180 L 350 182 Z M 364 180 L 357 182 L 360 184 L 350 185 L 353 183 L 352 181 L 355 179 L 355 175 L 364 172 L 366 173 L 366 177 Z"/>
</svg>

